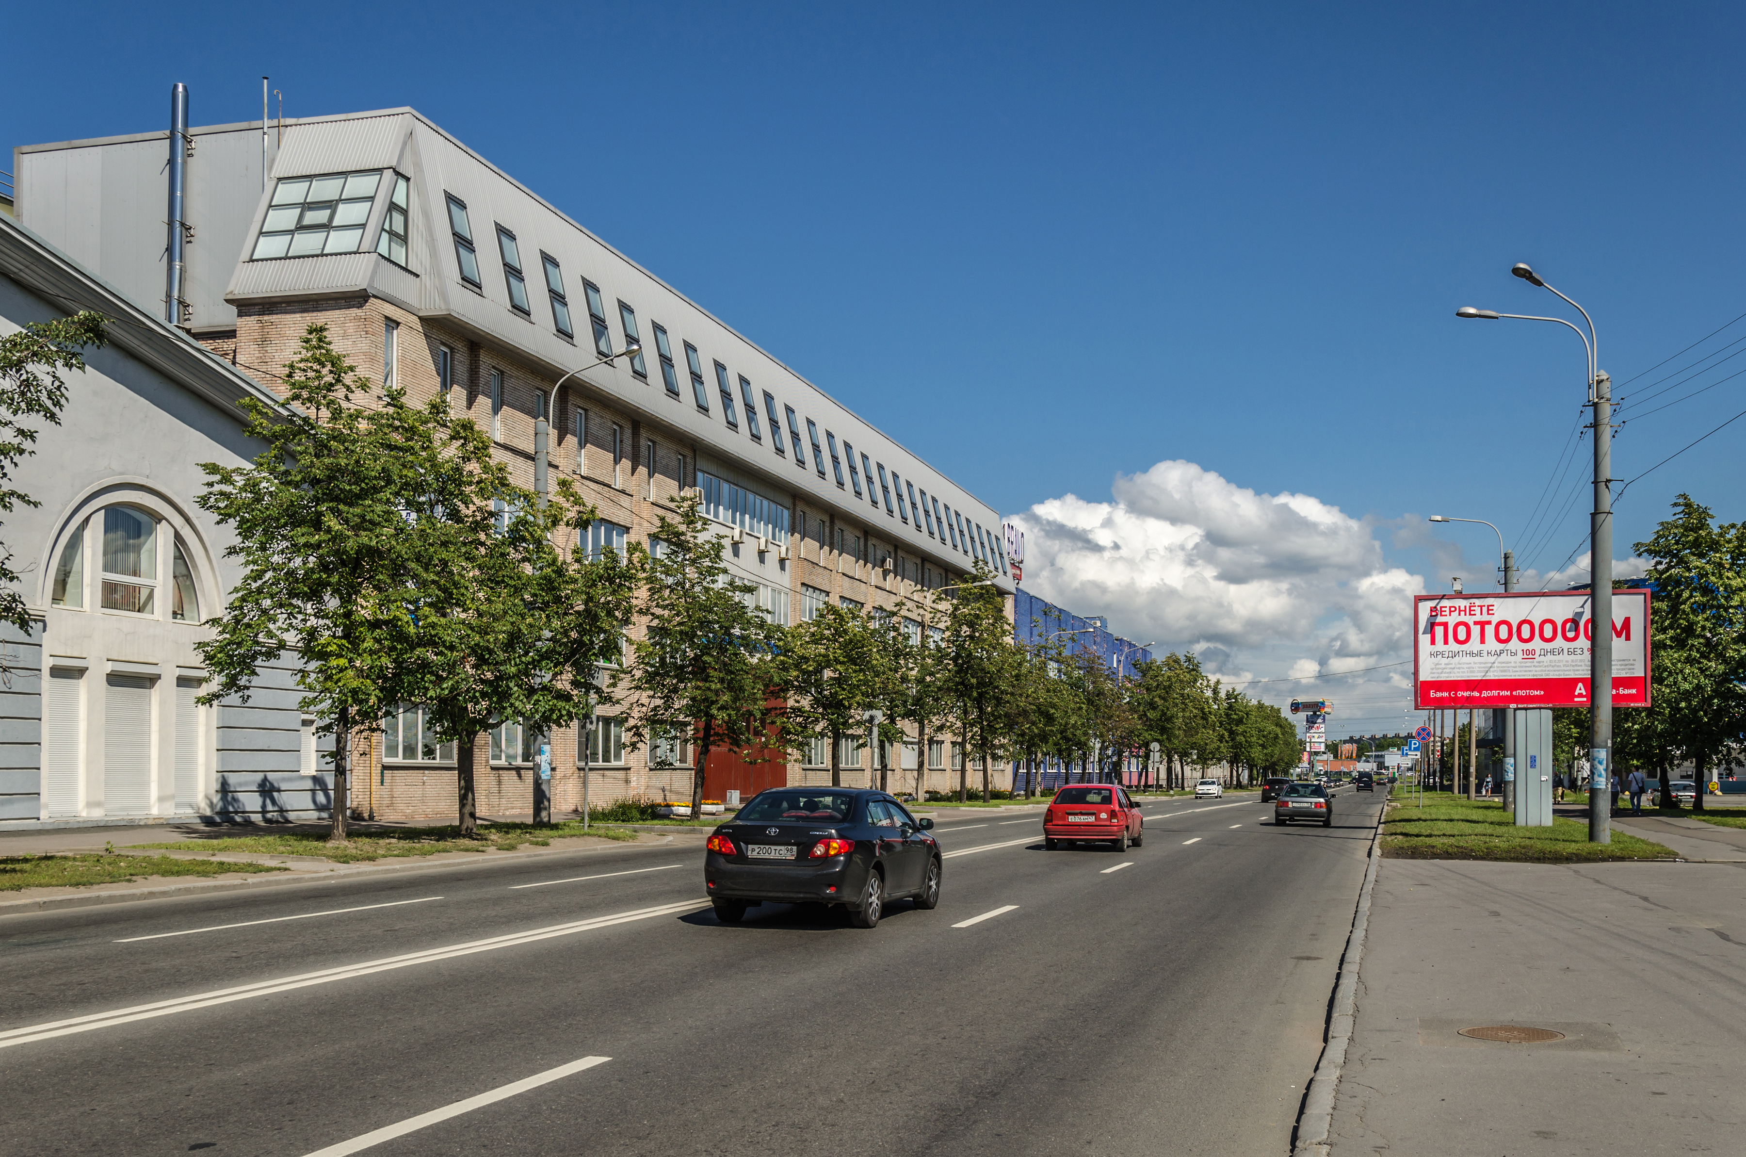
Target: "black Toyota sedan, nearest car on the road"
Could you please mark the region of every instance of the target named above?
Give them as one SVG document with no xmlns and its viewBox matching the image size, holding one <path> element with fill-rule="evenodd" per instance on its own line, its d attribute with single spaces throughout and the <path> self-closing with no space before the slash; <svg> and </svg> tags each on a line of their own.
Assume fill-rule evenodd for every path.
<svg viewBox="0 0 1746 1157">
<path fill-rule="evenodd" d="M 873 928 L 892 900 L 939 904 L 932 827 L 885 792 L 772 788 L 709 837 L 704 886 L 726 923 L 777 900 L 840 905 L 856 928 Z"/>
</svg>

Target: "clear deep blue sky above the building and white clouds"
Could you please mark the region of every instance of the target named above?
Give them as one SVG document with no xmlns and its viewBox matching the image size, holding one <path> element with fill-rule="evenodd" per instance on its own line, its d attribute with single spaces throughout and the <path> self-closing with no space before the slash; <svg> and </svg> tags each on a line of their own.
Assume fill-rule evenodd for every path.
<svg viewBox="0 0 1746 1157">
<path fill-rule="evenodd" d="M 1568 330 L 1456 306 L 1552 311 L 1507 273 L 1531 262 L 1626 393 L 1746 311 L 1739 5 L 35 5 L 9 31 L 58 45 L 10 63 L 10 143 L 159 129 L 173 80 L 201 124 L 258 115 L 262 73 L 286 115 L 412 105 L 1002 510 L 1182 458 L 1470 587 L 1496 540 L 1439 554 L 1423 516 L 1529 545 L 1584 385 Z M 1627 425 L 1617 472 L 1743 398 Z M 1743 435 L 1633 488 L 1619 554 L 1681 489 L 1746 516 Z"/>
</svg>

